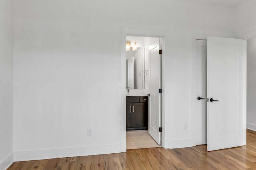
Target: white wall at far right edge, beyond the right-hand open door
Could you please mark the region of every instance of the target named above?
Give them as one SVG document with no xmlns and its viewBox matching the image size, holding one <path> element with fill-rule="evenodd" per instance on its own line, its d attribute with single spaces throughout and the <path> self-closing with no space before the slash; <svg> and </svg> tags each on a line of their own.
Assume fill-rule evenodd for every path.
<svg viewBox="0 0 256 170">
<path fill-rule="evenodd" d="M 248 39 L 247 41 L 247 128 L 256 131 L 256 117 L 254 108 L 255 99 L 255 37 L 256 37 L 256 1 L 248 2 L 237 6 L 234 9 L 236 23 L 236 37 Z"/>
</svg>

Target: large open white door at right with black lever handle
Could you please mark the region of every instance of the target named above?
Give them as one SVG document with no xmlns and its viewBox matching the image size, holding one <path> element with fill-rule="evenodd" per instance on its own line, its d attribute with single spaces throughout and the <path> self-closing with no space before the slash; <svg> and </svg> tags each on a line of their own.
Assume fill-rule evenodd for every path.
<svg viewBox="0 0 256 170">
<path fill-rule="evenodd" d="M 207 150 L 243 145 L 243 40 L 207 38 Z"/>
</svg>

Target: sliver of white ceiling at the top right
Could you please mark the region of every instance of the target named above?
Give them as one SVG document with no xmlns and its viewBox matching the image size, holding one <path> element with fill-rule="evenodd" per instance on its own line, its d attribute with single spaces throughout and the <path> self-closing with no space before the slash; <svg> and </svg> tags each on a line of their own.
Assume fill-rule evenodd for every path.
<svg viewBox="0 0 256 170">
<path fill-rule="evenodd" d="M 199 4 L 208 4 L 208 5 L 217 5 L 217 6 L 226 6 L 226 7 L 235 7 L 249 0 L 179 0 Z"/>
</svg>

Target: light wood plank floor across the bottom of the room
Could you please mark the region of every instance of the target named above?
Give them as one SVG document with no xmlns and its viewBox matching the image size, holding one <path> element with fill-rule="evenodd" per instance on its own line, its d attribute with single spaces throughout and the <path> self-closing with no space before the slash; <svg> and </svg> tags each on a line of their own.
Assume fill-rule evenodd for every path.
<svg viewBox="0 0 256 170">
<path fill-rule="evenodd" d="M 256 170 L 256 132 L 247 145 L 207 152 L 206 145 L 182 149 L 133 149 L 124 153 L 14 162 L 8 170 Z"/>
</svg>

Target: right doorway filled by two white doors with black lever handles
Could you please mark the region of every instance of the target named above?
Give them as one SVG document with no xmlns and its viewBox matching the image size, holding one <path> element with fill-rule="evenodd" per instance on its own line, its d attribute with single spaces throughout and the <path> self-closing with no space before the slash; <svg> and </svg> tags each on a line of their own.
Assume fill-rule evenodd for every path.
<svg viewBox="0 0 256 170">
<path fill-rule="evenodd" d="M 196 39 L 194 45 L 192 113 L 195 116 L 195 145 L 207 144 L 208 151 L 242 146 L 246 98 L 243 94 L 246 88 L 244 41 L 207 37 L 207 41 Z"/>
</svg>

